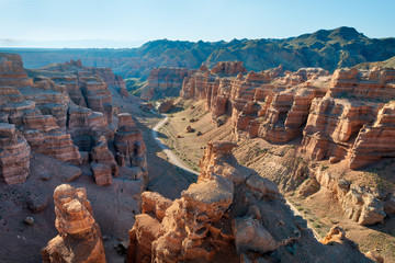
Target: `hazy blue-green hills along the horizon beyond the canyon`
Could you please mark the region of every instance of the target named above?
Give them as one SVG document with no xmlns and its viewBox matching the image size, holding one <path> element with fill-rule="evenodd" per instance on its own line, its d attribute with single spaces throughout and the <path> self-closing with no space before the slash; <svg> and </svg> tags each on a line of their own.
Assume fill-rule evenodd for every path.
<svg viewBox="0 0 395 263">
<path fill-rule="evenodd" d="M 19 53 L 26 68 L 81 59 L 86 66 L 111 67 L 124 78 L 147 78 L 154 67 L 199 68 L 202 62 L 241 60 L 248 70 L 283 65 L 284 69 L 321 67 L 335 70 L 395 56 L 395 38 L 369 38 L 352 27 L 320 30 L 285 39 L 232 42 L 154 41 L 131 49 L 1 49 Z"/>
</svg>

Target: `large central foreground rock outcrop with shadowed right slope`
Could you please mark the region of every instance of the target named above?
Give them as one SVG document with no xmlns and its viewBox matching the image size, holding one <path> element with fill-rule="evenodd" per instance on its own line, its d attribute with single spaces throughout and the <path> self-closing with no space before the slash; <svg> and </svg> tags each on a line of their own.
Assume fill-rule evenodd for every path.
<svg viewBox="0 0 395 263">
<path fill-rule="evenodd" d="M 181 198 L 142 194 L 127 262 L 369 262 L 346 238 L 317 242 L 273 182 L 237 163 L 234 147 L 210 142 Z"/>
</svg>

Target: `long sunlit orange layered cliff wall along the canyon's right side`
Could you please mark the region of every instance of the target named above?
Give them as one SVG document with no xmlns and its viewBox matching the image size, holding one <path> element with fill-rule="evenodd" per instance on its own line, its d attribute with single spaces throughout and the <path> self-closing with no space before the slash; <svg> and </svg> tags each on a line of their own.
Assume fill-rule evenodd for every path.
<svg viewBox="0 0 395 263">
<path fill-rule="evenodd" d="M 224 64 L 217 68 L 232 66 Z M 234 78 L 202 67 L 185 78 L 180 94 L 206 100 L 213 121 L 230 117 L 239 137 L 276 144 L 302 138 L 307 159 L 347 158 L 358 169 L 394 156 L 392 144 L 384 144 L 393 137 L 394 85 L 395 69 L 384 68 L 330 76 L 319 68 L 284 72 L 279 67 Z"/>
</svg>

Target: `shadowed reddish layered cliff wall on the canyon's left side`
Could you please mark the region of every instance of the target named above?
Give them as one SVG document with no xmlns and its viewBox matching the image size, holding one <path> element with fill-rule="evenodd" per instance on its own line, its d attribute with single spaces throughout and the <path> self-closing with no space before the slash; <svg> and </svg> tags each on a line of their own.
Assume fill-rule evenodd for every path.
<svg viewBox="0 0 395 263">
<path fill-rule="evenodd" d="M 0 173 L 8 184 L 26 180 L 34 153 L 92 163 L 101 185 L 120 175 L 119 167 L 131 180 L 146 176 L 142 133 L 132 116 L 114 116 L 110 90 L 124 82 L 111 69 L 70 61 L 27 72 L 20 56 L 0 54 Z"/>
</svg>

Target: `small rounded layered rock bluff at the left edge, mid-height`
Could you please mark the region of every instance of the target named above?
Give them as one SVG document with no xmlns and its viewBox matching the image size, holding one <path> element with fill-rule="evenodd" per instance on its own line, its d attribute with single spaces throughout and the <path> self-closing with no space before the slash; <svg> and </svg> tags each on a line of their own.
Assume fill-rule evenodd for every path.
<svg viewBox="0 0 395 263">
<path fill-rule="evenodd" d="M 7 184 L 25 182 L 30 155 L 31 148 L 15 125 L 0 123 L 0 175 Z"/>
</svg>

